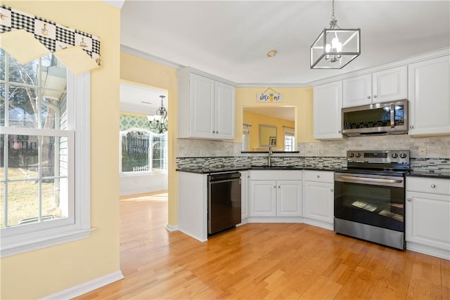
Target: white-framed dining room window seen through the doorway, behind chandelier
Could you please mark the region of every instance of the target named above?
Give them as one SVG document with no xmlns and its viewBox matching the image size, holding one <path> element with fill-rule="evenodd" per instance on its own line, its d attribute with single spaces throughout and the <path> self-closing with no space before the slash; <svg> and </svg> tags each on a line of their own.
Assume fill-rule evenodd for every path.
<svg viewBox="0 0 450 300">
<path fill-rule="evenodd" d="M 120 131 L 121 164 L 124 174 L 167 171 L 167 133 L 132 128 Z"/>
</svg>

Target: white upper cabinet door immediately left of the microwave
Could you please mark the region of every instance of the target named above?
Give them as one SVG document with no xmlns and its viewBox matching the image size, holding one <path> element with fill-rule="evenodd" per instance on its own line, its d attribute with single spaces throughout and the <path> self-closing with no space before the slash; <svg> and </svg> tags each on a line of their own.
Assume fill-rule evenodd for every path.
<svg viewBox="0 0 450 300">
<path fill-rule="evenodd" d="M 342 138 L 342 81 L 314 86 L 314 138 Z"/>
</svg>

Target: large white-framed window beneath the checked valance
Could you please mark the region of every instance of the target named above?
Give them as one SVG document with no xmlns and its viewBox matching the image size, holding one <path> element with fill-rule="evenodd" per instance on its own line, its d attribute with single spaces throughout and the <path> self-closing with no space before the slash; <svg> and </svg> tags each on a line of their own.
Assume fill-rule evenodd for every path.
<svg viewBox="0 0 450 300">
<path fill-rule="evenodd" d="M 0 60 L 1 256 L 89 236 L 89 73 Z"/>
</svg>

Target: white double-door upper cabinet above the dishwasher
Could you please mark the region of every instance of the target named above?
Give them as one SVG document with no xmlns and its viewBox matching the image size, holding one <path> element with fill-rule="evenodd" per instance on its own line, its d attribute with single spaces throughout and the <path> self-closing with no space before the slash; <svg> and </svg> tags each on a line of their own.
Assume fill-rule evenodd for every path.
<svg viewBox="0 0 450 300">
<path fill-rule="evenodd" d="M 234 86 L 179 72 L 178 137 L 234 139 Z"/>
</svg>

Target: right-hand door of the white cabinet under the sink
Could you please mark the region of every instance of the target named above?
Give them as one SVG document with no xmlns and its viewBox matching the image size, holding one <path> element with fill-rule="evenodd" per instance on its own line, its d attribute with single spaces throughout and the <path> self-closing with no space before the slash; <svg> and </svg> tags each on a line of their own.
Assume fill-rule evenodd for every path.
<svg viewBox="0 0 450 300">
<path fill-rule="evenodd" d="M 276 181 L 276 215 L 302 216 L 302 181 Z"/>
</svg>

